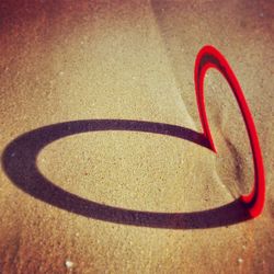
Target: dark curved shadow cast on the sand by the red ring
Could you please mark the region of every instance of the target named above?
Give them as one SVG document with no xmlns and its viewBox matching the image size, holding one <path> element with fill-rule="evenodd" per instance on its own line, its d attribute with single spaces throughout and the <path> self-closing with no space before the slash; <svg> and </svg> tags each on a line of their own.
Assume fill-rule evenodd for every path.
<svg viewBox="0 0 274 274">
<path fill-rule="evenodd" d="M 161 134 L 209 148 L 204 135 L 192 129 L 152 122 L 128 119 L 84 119 L 44 126 L 11 141 L 2 153 L 2 168 L 9 179 L 33 197 L 88 218 L 139 227 L 202 229 L 233 225 L 250 219 L 239 199 L 208 210 L 193 213 L 138 212 L 112 207 L 81 198 L 55 185 L 39 172 L 36 159 L 50 142 L 80 133 L 129 130 Z"/>
</svg>

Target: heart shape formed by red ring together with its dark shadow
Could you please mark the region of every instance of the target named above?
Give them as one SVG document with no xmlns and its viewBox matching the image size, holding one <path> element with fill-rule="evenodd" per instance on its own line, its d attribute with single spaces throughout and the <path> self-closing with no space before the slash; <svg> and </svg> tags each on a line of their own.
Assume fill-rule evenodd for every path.
<svg viewBox="0 0 274 274">
<path fill-rule="evenodd" d="M 196 142 L 216 152 L 204 104 L 204 78 L 209 68 L 218 69 L 227 79 L 244 118 L 255 170 L 255 183 L 251 194 L 209 210 L 180 214 L 139 212 L 84 199 L 64 191 L 41 174 L 36 160 L 39 151 L 46 145 L 66 136 L 85 132 L 134 130 L 163 134 Z M 264 205 L 265 181 L 255 126 L 231 68 L 224 56 L 212 46 L 203 47 L 197 55 L 195 62 L 195 89 L 204 129 L 203 134 L 180 126 L 141 121 L 93 119 L 65 122 L 36 128 L 11 141 L 2 153 L 2 168 L 16 186 L 35 198 L 75 214 L 116 224 L 172 229 L 197 229 L 228 226 L 256 217 L 261 214 Z M 248 210 L 241 212 L 241 208 L 238 207 L 239 201 L 246 205 Z"/>
</svg>

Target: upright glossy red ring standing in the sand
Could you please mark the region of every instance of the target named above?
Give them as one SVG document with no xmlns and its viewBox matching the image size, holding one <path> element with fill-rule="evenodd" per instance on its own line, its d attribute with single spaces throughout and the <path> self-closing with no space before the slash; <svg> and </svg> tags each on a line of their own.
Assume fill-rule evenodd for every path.
<svg viewBox="0 0 274 274">
<path fill-rule="evenodd" d="M 241 201 L 244 204 L 244 206 L 247 206 L 250 216 L 254 218 L 262 213 L 265 199 L 265 178 L 264 178 L 263 159 L 255 125 L 251 112 L 249 110 L 249 106 L 247 104 L 247 101 L 244 99 L 242 89 L 232 69 L 230 68 L 228 61 L 213 46 L 204 46 L 199 50 L 196 57 L 194 80 L 195 80 L 195 91 L 196 91 L 199 118 L 203 126 L 204 135 L 209 142 L 209 148 L 216 152 L 210 128 L 208 125 L 208 119 L 206 116 L 205 98 L 204 98 L 204 78 L 206 71 L 209 68 L 217 69 L 229 83 L 231 90 L 233 91 L 235 98 L 238 102 L 238 105 L 241 110 L 246 123 L 253 155 L 254 185 L 252 192 L 249 195 L 241 196 Z"/>
</svg>

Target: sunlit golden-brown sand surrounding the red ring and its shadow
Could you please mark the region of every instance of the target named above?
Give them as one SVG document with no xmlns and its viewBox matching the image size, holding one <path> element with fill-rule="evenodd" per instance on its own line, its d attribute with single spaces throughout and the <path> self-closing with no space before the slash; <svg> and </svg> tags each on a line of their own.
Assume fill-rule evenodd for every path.
<svg viewBox="0 0 274 274">
<path fill-rule="evenodd" d="M 213 44 L 254 116 L 266 171 L 263 215 L 202 229 L 191 228 L 195 218 L 189 229 L 174 229 L 176 217 L 173 228 L 160 228 L 170 226 L 161 218 L 149 227 L 136 215 L 134 226 L 116 224 L 110 219 L 123 216 L 96 212 L 94 219 L 35 198 L 2 165 L 0 273 L 273 273 L 274 2 L 190 2 L 2 0 L 0 152 L 32 129 L 79 119 L 201 132 L 193 68 L 198 49 Z M 226 205 L 251 187 L 251 152 L 226 81 L 210 71 L 205 89 L 218 156 L 168 135 L 90 132 L 48 144 L 37 167 L 67 193 L 113 207 L 192 213 Z M 30 192 L 35 183 L 30 175 Z"/>
</svg>

